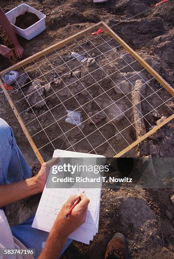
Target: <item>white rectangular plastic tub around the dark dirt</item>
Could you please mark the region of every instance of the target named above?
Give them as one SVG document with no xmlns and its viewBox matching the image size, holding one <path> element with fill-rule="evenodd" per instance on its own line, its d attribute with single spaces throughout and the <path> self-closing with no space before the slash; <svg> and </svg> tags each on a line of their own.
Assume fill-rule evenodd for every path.
<svg viewBox="0 0 174 259">
<path fill-rule="evenodd" d="M 25 12 L 35 13 L 40 20 L 37 23 L 30 26 L 29 28 L 23 30 L 15 26 L 15 23 L 16 23 L 16 17 L 24 14 Z M 39 12 L 38 10 L 36 10 L 35 8 L 29 5 L 21 4 L 15 7 L 14 9 L 12 9 L 11 11 L 7 12 L 6 16 L 9 19 L 10 23 L 13 25 L 15 32 L 28 40 L 36 37 L 39 33 L 45 30 L 46 15 Z"/>
</svg>

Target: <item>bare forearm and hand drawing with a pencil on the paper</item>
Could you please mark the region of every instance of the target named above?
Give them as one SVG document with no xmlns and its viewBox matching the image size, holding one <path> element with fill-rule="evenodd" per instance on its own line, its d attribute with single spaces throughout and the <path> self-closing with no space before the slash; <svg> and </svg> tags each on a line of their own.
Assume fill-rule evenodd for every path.
<svg viewBox="0 0 174 259">
<path fill-rule="evenodd" d="M 79 196 L 71 196 L 59 212 L 55 224 L 48 235 L 46 245 L 38 259 L 57 259 L 66 243 L 70 233 L 85 222 L 86 212 L 89 204 L 88 198 L 82 193 L 81 201 L 73 208 L 71 214 L 65 218 L 68 209 L 74 204 Z"/>
</svg>

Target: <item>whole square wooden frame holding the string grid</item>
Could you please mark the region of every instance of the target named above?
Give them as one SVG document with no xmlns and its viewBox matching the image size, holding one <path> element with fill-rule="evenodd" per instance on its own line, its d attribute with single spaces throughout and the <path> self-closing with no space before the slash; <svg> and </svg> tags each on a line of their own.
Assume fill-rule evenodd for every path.
<svg viewBox="0 0 174 259">
<path fill-rule="evenodd" d="M 132 48 L 130 48 L 124 41 L 122 41 L 122 39 L 116 34 L 114 33 L 113 30 L 111 30 L 109 28 L 109 26 L 107 24 L 105 24 L 104 22 L 100 22 L 100 23 L 97 23 L 95 24 L 94 26 L 91 26 L 79 33 L 76 33 L 66 39 L 64 39 L 63 41 L 57 43 L 57 44 L 54 44 L 52 45 L 51 47 L 48 47 L 40 52 L 38 52 L 37 54 L 34 54 L 26 59 L 24 59 L 23 61 L 9 67 L 8 69 L 5 69 L 3 70 L 2 72 L 0 72 L 0 76 L 8 71 L 8 70 L 15 70 L 15 69 L 18 69 L 20 67 L 22 67 L 23 65 L 26 65 L 32 61 L 34 61 L 35 59 L 45 55 L 45 54 L 48 54 L 49 52 L 55 50 L 55 49 L 58 49 L 60 47 L 62 47 L 63 45 L 67 44 L 67 43 L 70 43 L 71 41 L 73 41 L 74 39 L 78 39 L 80 38 L 81 36 L 84 36 L 86 33 L 92 33 L 92 32 L 95 32 L 98 28 L 101 28 L 103 27 L 104 30 L 110 34 L 112 36 L 112 38 L 114 38 L 116 40 L 117 43 L 119 43 L 128 53 L 130 53 L 154 78 L 157 79 L 157 81 L 171 94 L 171 96 L 174 96 L 174 90 L 173 88 L 167 84 L 165 82 L 165 80 L 150 66 L 148 65 Z M 43 158 L 39 152 L 39 150 L 37 149 L 27 127 L 24 125 L 23 123 L 23 120 L 17 110 L 17 108 L 15 107 L 9 93 L 7 92 L 3 82 L 2 82 L 2 79 L 0 78 L 0 85 L 4 91 L 4 94 L 6 95 L 7 99 L 8 99 L 8 102 L 16 116 L 16 118 L 18 119 L 18 122 L 24 132 L 24 134 L 26 135 L 34 153 L 36 154 L 39 162 L 42 164 L 44 161 L 43 161 Z M 145 140 L 145 138 L 147 138 L 148 136 L 154 134 L 154 132 L 156 132 L 158 129 L 160 129 L 162 126 L 164 126 L 165 124 L 167 124 L 168 122 L 171 121 L 171 119 L 174 118 L 174 114 L 172 114 L 171 116 L 169 116 L 168 118 L 165 119 L 165 121 L 163 121 L 162 123 L 160 123 L 159 125 L 155 126 L 152 130 L 148 131 L 146 134 L 144 134 L 143 136 L 139 137 L 135 142 L 133 142 L 131 145 L 129 145 L 127 148 L 123 149 L 122 151 L 120 151 L 118 154 L 116 154 L 114 157 L 120 157 L 122 156 L 123 154 L 125 154 L 126 152 L 130 151 L 133 147 L 135 147 L 137 144 L 139 144 L 140 142 L 142 142 L 143 140 Z"/>
</svg>

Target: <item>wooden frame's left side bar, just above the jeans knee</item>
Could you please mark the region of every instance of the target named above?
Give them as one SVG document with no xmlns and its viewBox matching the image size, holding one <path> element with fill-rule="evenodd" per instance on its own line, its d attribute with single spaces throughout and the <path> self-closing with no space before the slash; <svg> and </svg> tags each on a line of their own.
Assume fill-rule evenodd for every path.
<svg viewBox="0 0 174 259">
<path fill-rule="evenodd" d="M 3 84 L 3 82 L 2 82 L 1 79 L 0 79 L 0 85 L 1 85 L 1 88 L 3 89 L 3 91 L 4 91 L 4 94 L 6 95 L 6 97 L 7 97 L 7 99 L 8 99 L 8 102 L 9 102 L 9 104 L 10 104 L 10 106 L 11 106 L 11 108 L 12 108 L 14 114 L 16 115 L 16 118 L 17 118 L 17 120 L 18 120 L 18 122 L 19 122 L 19 124 L 20 124 L 20 126 L 21 126 L 21 128 L 22 128 L 22 130 L 23 130 L 23 132 L 24 132 L 24 134 L 26 135 L 26 137 L 27 137 L 27 139 L 28 139 L 28 141 L 29 141 L 29 143 L 30 143 L 30 145 L 31 145 L 31 147 L 32 147 L 32 149 L 33 149 L 33 151 L 35 152 L 35 154 L 36 154 L 36 156 L 37 156 L 37 158 L 38 158 L 40 164 L 43 164 L 43 163 L 44 163 L 44 160 L 43 160 L 43 158 L 42 158 L 40 152 L 38 151 L 38 149 L 37 149 L 37 147 L 36 147 L 36 145 L 35 145 L 35 143 L 34 143 L 32 137 L 31 137 L 31 135 L 30 135 L 28 129 L 27 129 L 26 126 L 24 125 L 24 123 L 23 123 L 23 121 L 22 121 L 22 118 L 21 118 L 20 114 L 18 113 L 17 108 L 15 107 L 15 105 L 14 105 L 14 103 L 13 103 L 13 101 L 12 101 L 12 99 L 11 99 L 9 93 L 7 92 L 7 90 L 6 90 L 6 88 L 5 88 L 5 86 L 4 86 L 4 84 Z"/>
</svg>

